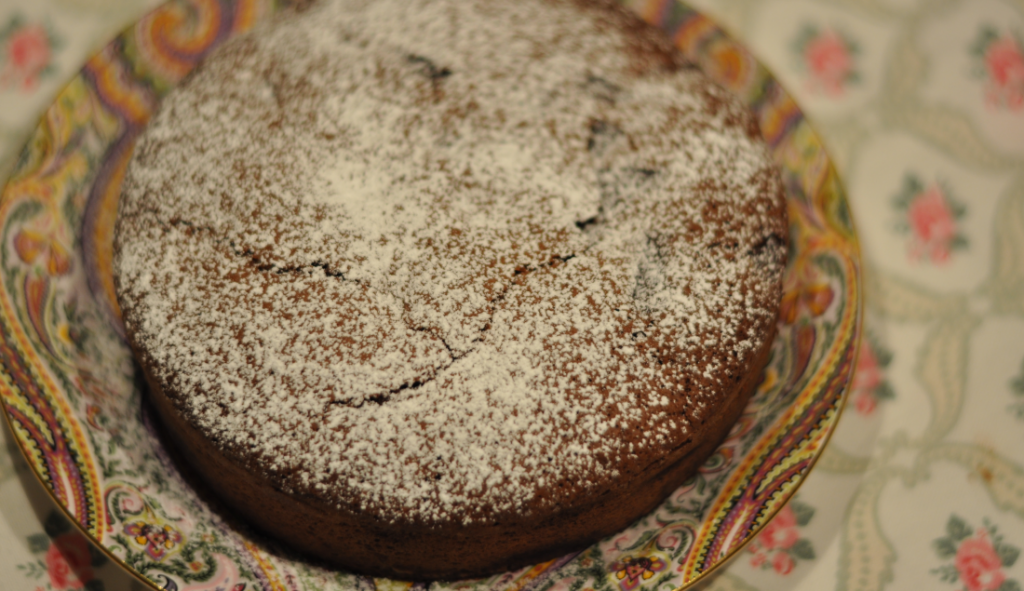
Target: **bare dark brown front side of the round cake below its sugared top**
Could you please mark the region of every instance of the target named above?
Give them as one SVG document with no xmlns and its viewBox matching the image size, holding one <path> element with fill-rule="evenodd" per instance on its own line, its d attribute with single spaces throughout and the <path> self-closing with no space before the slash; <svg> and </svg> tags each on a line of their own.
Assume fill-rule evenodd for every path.
<svg viewBox="0 0 1024 591">
<path fill-rule="evenodd" d="M 616 482 L 614 489 L 571 510 L 551 511 L 540 519 L 509 514 L 494 523 L 389 523 L 316 498 L 285 493 L 258 470 L 214 446 L 184 420 L 144 364 L 142 371 L 150 399 L 181 459 L 259 531 L 354 573 L 399 580 L 459 580 L 583 550 L 653 511 L 725 440 L 761 382 L 776 332 L 764 340 L 750 366 L 752 371 L 732 392 L 724 392 L 719 413 L 702 425 L 701 442 L 682 446 L 678 457 L 652 464 L 645 471 L 648 477 Z M 138 357 L 141 351 L 131 344 Z"/>
</svg>

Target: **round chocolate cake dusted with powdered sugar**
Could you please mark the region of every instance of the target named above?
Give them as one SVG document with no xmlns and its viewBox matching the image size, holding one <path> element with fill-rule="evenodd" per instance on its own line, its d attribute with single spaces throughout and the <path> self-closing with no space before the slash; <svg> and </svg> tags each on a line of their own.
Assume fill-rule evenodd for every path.
<svg viewBox="0 0 1024 591">
<path fill-rule="evenodd" d="M 610 3 L 323 0 L 165 98 L 116 283 L 184 458 L 341 567 L 453 579 L 651 511 L 767 363 L 757 121 Z"/>
</svg>

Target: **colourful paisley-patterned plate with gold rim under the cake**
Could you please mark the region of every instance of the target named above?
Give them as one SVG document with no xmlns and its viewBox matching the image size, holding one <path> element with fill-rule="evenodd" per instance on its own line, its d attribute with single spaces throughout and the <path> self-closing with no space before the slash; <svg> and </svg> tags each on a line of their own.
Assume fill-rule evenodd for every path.
<svg viewBox="0 0 1024 591">
<path fill-rule="evenodd" d="M 186 482 L 142 404 L 114 297 L 120 184 L 160 97 L 274 11 L 272 1 L 172 0 L 144 16 L 60 92 L 0 196 L 0 396 L 59 506 L 116 561 L 166 590 L 667 590 L 723 564 L 793 496 L 836 426 L 859 339 L 860 262 L 843 188 L 800 109 L 749 51 L 675 0 L 632 7 L 757 113 L 782 170 L 793 237 L 764 382 L 696 476 L 579 554 L 430 584 L 307 562 Z"/>
</svg>

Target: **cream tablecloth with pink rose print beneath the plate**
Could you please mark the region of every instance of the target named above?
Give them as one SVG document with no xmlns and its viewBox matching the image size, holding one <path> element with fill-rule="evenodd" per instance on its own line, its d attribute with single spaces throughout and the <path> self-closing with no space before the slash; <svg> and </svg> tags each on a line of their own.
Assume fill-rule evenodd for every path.
<svg viewBox="0 0 1024 591">
<path fill-rule="evenodd" d="M 1020 591 L 1024 1 L 693 3 L 815 123 L 867 268 L 833 442 L 712 588 Z M 154 4 L 0 0 L 0 178 L 61 84 Z M 6 427 L 0 438 L 0 587 L 142 588 L 65 520 Z"/>
</svg>

